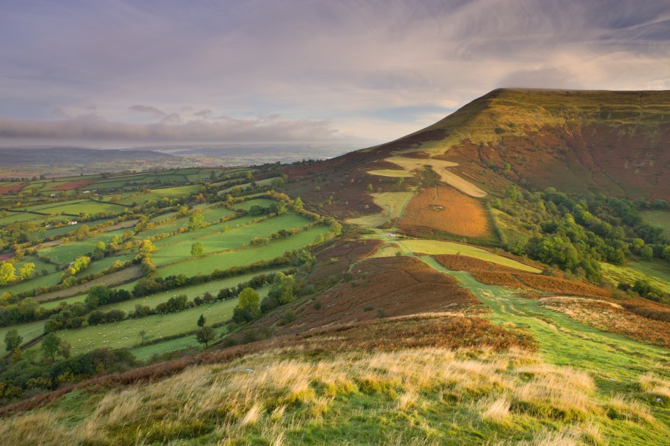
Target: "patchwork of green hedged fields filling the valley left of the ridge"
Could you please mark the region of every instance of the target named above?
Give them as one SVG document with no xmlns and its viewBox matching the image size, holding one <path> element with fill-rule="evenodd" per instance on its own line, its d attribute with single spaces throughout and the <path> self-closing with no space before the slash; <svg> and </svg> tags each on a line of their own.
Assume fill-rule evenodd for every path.
<svg viewBox="0 0 670 446">
<path fill-rule="evenodd" d="M 35 266 L 32 278 L 15 278 L 8 285 L 0 287 L 3 298 L 13 302 L 18 300 L 17 305 L 22 305 L 22 299 L 30 296 L 38 302 L 37 313 L 47 312 L 47 315 L 53 316 L 48 321 L 35 320 L 3 327 L 0 336 L 16 328 L 23 338 L 22 343 L 29 343 L 43 336 L 47 322 L 52 323 L 54 318 L 72 318 L 70 309 L 77 305 L 77 311 L 84 308 L 84 311 L 90 313 L 91 309 L 82 307 L 82 303 L 91 286 L 102 285 L 110 292 L 126 290 L 128 293 L 121 302 L 99 306 L 96 308 L 98 313 L 117 311 L 118 314 L 128 315 L 138 305 L 147 308 L 149 313 L 136 319 L 122 317 L 121 320 L 102 325 L 89 325 L 86 321 L 88 313 L 84 314 L 80 318 L 83 323 L 77 322 L 82 327 L 66 326 L 56 330 L 61 340 L 72 345 L 73 354 L 79 355 L 102 347 L 133 349 L 140 343 L 137 338 L 140 331 L 146 332 L 143 334 L 144 341 L 151 341 L 149 345 L 140 347 L 142 350 L 139 355 L 143 359 L 156 352 L 168 353 L 174 349 L 198 345 L 194 335 L 189 333 L 198 329 L 195 321 L 200 314 L 205 315 L 210 325 L 219 324 L 228 322 L 232 310 L 237 306 L 234 295 L 228 299 L 215 297 L 213 302 L 210 297 L 205 304 L 198 299 L 209 293 L 216 296 L 221 289 L 237 290 L 238 284 L 267 277 L 265 274 L 286 271 L 295 258 L 285 257 L 286 253 L 292 252 L 292 256 L 295 256 L 301 248 L 329 237 L 329 226 L 315 221 L 318 218 L 315 214 L 285 210 L 290 202 L 276 207 L 281 209 L 277 211 L 278 214 L 269 214 L 271 208 L 275 209 L 278 200 L 290 200 L 285 196 L 265 194 L 266 185 L 271 181 L 260 180 L 253 187 L 249 184 L 246 195 L 238 191 L 238 198 L 232 201 L 229 195 L 224 197 L 218 193 L 221 188 L 230 187 L 227 181 L 231 178 L 232 181 L 238 181 L 236 178 L 248 177 L 248 172 L 250 170 L 247 169 L 202 171 L 194 168 L 173 174 L 112 176 L 98 179 L 97 182 L 91 179 L 43 181 L 44 190 L 62 190 L 73 186 L 110 188 L 111 184 L 119 184 L 121 187 L 121 181 L 124 182 L 123 188 L 132 188 L 134 184 L 151 184 L 156 180 L 153 177 L 161 177 L 165 183 L 174 183 L 179 177 L 190 181 L 214 177 L 221 179 L 218 186 L 186 184 L 149 191 L 117 191 L 112 195 L 97 195 L 95 200 L 89 196 L 79 196 L 72 200 L 50 196 L 28 207 L 28 211 L 6 211 L 3 217 L 6 224 L 19 221 L 16 224 L 29 225 L 26 228 L 31 230 L 36 225 L 45 224 L 44 221 L 54 222 L 54 215 L 71 215 L 70 218 L 82 220 L 83 223 L 77 221 L 58 228 L 36 231 L 32 235 L 36 244 L 27 243 L 23 247 L 29 253 L 22 253 L 22 258 L 16 259 L 12 259 L 11 253 L 6 254 L 6 258 L 14 262 L 15 271 L 23 265 Z M 200 203 L 194 203 L 195 198 Z M 224 202 L 224 198 L 228 201 Z M 130 205 L 132 209 L 128 207 Z M 26 218 L 27 223 L 22 223 L 22 218 Z M 65 221 L 68 221 L 67 217 Z M 149 241 L 152 244 L 149 257 L 152 269 L 147 272 L 137 262 L 143 255 L 138 247 Z M 191 253 L 195 242 L 202 244 L 198 255 Z M 87 267 L 81 272 L 77 271 L 76 275 L 66 271 L 66 267 L 74 265 L 75 259 L 84 256 L 91 259 Z M 252 264 L 253 268 L 249 266 Z M 233 272 L 221 276 L 221 272 L 227 269 Z M 211 273 L 219 275 L 207 276 Z M 184 284 L 170 285 L 165 290 L 159 288 L 156 292 L 141 292 L 135 297 L 133 291 L 142 281 L 147 280 L 147 274 L 151 280 L 156 277 L 159 281 L 179 276 Z M 191 280 L 194 276 L 198 276 L 198 281 Z M 261 297 L 268 290 L 267 285 L 261 288 Z M 180 307 L 181 310 L 176 312 L 156 313 L 155 309 L 170 304 L 182 295 L 189 302 L 186 307 Z M 223 335 L 226 330 L 220 327 L 216 333 Z M 186 334 L 186 338 L 181 339 L 181 334 Z M 164 337 L 168 339 L 160 341 Z M 39 351 L 40 346 L 33 345 L 31 349 Z"/>
</svg>

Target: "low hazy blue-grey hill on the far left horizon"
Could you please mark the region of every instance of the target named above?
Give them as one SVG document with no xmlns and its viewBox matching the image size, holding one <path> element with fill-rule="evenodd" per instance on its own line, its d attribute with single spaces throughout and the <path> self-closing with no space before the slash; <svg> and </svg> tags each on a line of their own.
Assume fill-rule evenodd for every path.
<svg viewBox="0 0 670 446">
<path fill-rule="evenodd" d="M 174 157 L 149 150 L 82 149 L 80 147 L 0 148 L 0 165 L 2 166 L 50 163 L 88 165 L 128 161 L 159 161 L 168 158 Z"/>
</svg>

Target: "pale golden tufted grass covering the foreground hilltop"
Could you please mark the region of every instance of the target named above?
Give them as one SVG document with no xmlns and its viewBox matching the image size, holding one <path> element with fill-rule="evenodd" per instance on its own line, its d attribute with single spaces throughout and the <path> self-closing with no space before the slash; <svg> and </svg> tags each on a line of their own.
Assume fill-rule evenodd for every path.
<svg viewBox="0 0 670 446">
<path fill-rule="evenodd" d="M 254 371 L 240 371 L 246 368 Z M 357 406 L 361 399 L 366 403 Z M 3 419 L 0 442 L 292 445 L 310 443 L 306 432 L 336 428 L 328 444 L 345 445 L 355 444 L 346 432 L 371 423 L 366 429 L 380 436 L 374 444 L 432 445 L 460 423 L 495 432 L 500 442 L 491 445 L 580 445 L 600 444 L 589 438 L 600 435 L 596 424 L 602 420 L 655 423 L 638 401 L 602 399 L 588 374 L 544 364 L 523 350 L 422 348 L 321 360 L 275 350 L 194 366 L 159 382 L 92 396 L 84 406 L 79 415 L 56 404 Z M 431 426 L 429 415 L 442 408 L 460 414 L 451 429 L 440 430 L 442 421 Z M 387 425 L 381 429 L 375 419 Z M 492 431 L 496 426 L 504 429 Z"/>
</svg>

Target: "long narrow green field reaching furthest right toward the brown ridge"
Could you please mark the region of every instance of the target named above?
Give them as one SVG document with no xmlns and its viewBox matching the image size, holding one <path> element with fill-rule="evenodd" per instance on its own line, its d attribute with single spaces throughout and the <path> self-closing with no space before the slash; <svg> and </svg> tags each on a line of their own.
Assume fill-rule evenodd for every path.
<svg viewBox="0 0 670 446">
<path fill-rule="evenodd" d="M 158 268 L 158 276 L 168 277 L 186 274 L 211 274 L 215 269 L 228 269 L 236 265 L 249 265 L 261 260 L 271 260 L 286 251 L 301 248 L 313 243 L 319 235 L 326 235 L 329 231 L 327 226 L 319 226 L 308 231 L 299 232 L 288 239 L 272 241 L 265 246 L 251 246 L 239 251 L 228 251 L 221 254 L 207 255 L 200 258 L 190 258 L 182 262 L 173 263 Z"/>
</svg>

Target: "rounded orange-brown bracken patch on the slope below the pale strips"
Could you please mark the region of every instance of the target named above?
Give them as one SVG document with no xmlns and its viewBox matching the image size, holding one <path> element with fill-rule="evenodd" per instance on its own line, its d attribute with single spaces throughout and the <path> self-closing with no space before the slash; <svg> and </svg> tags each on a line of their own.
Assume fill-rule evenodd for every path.
<svg viewBox="0 0 670 446">
<path fill-rule="evenodd" d="M 405 207 L 398 227 L 409 235 L 438 230 L 483 238 L 491 233 L 482 203 L 442 185 L 419 191 Z"/>
</svg>

